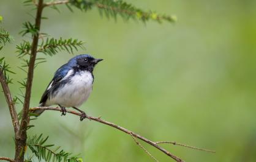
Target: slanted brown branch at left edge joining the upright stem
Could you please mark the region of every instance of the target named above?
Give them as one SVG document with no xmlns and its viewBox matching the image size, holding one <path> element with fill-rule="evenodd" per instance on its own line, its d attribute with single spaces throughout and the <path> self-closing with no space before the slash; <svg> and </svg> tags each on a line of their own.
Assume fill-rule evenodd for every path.
<svg viewBox="0 0 256 162">
<path fill-rule="evenodd" d="M 14 102 L 12 100 L 12 95 L 10 93 L 9 86 L 6 83 L 6 77 L 4 76 L 4 72 L 2 72 L 1 67 L 0 67 L 0 82 L 2 85 L 2 90 L 4 90 L 4 96 L 6 97 L 6 102 L 9 107 L 10 116 L 12 117 L 12 125 L 13 125 L 14 132 L 16 135 L 16 133 L 18 132 L 18 130 L 20 128 L 20 124 L 18 122 L 18 116 L 17 116 L 17 112 L 15 110 Z"/>
</svg>

